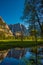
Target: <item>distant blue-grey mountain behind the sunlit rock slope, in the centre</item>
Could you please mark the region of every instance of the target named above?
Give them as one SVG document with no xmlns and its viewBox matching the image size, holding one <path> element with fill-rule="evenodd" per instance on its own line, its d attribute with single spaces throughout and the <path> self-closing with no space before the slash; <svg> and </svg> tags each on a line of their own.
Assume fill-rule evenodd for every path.
<svg viewBox="0 0 43 65">
<path fill-rule="evenodd" d="M 13 34 L 15 35 L 16 32 L 23 32 L 24 35 L 26 35 L 26 27 L 23 24 L 17 23 L 17 24 L 10 24 L 9 25 L 10 30 L 13 32 Z"/>
</svg>

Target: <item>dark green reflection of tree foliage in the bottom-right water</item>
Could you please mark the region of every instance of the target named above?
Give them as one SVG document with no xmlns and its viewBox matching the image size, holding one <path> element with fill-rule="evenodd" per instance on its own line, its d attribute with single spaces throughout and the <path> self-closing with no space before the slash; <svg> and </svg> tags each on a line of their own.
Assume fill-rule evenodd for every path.
<svg viewBox="0 0 43 65">
<path fill-rule="evenodd" d="M 41 65 L 41 61 L 39 60 L 39 56 L 37 56 L 37 64 Z M 21 60 L 23 60 L 25 62 L 26 65 L 36 65 L 36 56 L 32 55 L 30 57 L 30 59 L 26 59 L 25 57 L 23 57 Z"/>
</svg>

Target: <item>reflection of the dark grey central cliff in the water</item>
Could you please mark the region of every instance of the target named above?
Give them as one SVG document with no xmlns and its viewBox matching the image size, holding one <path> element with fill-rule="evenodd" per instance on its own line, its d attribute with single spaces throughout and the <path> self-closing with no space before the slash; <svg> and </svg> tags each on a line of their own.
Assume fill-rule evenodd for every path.
<svg viewBox="0 0 43 65">
<path fill-rule="evenodd" d="M 9 51 L 9 53 L 7 54 L 7 57 L 13 57 L 13 58 L 20 59 L 21 57 L 24 56 L 24 54 L 25 54 L 24 48 L 15 48 Z"/>
</svg>

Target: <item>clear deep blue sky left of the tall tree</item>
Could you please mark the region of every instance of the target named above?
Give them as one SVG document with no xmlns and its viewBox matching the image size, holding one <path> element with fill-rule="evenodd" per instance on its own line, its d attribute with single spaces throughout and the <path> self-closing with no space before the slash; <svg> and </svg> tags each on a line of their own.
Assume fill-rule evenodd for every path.
<svg viewBox="0 0 43 65">
<path fill-rule="evenodd" d="M 23 14 L 24 1 L 25 0 L 0 0 L 0 16 L 2 16 L 7 24 L 24 24 L 20 19 Z"/>
</svg>

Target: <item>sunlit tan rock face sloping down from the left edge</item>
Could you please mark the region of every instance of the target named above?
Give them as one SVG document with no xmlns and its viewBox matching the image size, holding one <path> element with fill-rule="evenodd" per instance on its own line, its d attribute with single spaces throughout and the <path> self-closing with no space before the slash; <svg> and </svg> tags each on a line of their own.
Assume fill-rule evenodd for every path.
<svg viewBox="0 0 43 65">
<path fill-rule="evenodd" d="M 13 36 L 13 33 L 9 29 L 8 25 L 0 17 L 0 37 Z"/>
</svg>

